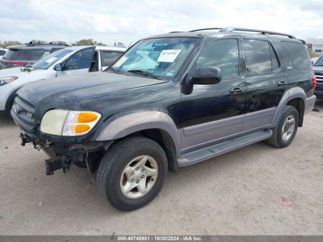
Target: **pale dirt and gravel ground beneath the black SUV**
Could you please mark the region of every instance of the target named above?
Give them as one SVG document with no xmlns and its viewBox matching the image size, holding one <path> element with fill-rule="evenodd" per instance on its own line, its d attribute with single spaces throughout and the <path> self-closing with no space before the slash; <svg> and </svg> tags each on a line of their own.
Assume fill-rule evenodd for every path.
<svg viewBox="0 0 323 242">
<path fill-rule="evenodd" d="M 168 174 L 148 206 L 120 212 L 86 169 L 46 176 L 45 154 L 0 120 L 0 234 L 323 234 L 323 100 L 294 142 L 263 142 Z"/>
</svg>

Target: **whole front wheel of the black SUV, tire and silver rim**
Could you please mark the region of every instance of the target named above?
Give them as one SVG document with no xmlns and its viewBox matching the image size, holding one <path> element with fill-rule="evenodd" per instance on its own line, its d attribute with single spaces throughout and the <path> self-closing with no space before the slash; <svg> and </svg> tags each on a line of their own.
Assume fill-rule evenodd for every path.
<svg viewBox="0 0 323 242">
<path fill-rule="evenodd" d="M 167 156 L 163 148 L 144 137 L 129 137 L 105 153 L 97 170 L 96 181 L 106 201 L 119 210 L 131 211 L 145 206 L 158 195 L 167 171 Z M 149 176 L 151 172 L 155 175 Z M 141 178 L 143 176 L 145 178 Z M 127 192 L 127 185 L 138 187 Z M 140 193 L 142 189 L 147 192 Z"/>
</svg>

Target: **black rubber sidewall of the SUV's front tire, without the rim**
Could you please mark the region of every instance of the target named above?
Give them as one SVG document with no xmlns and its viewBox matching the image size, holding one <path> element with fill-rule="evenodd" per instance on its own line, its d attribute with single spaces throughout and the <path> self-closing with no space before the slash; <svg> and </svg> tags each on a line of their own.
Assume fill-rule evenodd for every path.
<svg viewBox="0 0 323 242">
<path fill-rule="evenodd" d="M 117 162 L 114 163 L 109 171 L 109 177 L 105 179 L 108 183 L 106 187 L 109 190 L 106 191 L 107 199 L 114 205 L 114 207 L 126 211 L 134 210 L 148 204 L 157 196 L 164 185 L 168 164 L 164 150 L 156 145 L 144 144 L 136 146 L 134 149 L 128 149 L 125 154 L 118 157 Z M 145 196 L 137 199 L 130 199 L 122 193 L 120 188 L 120 179 L 126 165 L 128 165 L 132 159 L 141 155 L 148 155 L 155 159 L 158 167 L 158 174 L 154 186 Z"/>
</svg>

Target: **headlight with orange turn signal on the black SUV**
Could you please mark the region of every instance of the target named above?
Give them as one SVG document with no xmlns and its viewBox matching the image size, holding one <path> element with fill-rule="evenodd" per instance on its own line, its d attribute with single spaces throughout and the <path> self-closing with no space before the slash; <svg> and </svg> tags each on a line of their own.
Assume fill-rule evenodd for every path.
<svg viewBox="0 0 323 242">
<path fill-rule="evenodd" d="M 101 114 L 93 111 L 52 109 L 41 119 L 40 131 L 49 135 L 85 135 L 96 125 Z"/>
</svg>

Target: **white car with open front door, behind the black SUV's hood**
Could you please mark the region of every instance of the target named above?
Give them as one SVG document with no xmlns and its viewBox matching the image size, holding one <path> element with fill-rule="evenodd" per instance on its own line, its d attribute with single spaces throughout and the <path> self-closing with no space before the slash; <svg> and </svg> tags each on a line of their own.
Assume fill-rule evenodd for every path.
<svg viewBox="0 0 323 242">
<path fill-rule="evenodd" d="M 55 51 L 33 65 L 0 70 L 0 116 L 10 115 L 14 96 L 26 83 L 101 71 L 125 50 L 115 46 L 71 46 Z"/>
</svg>

